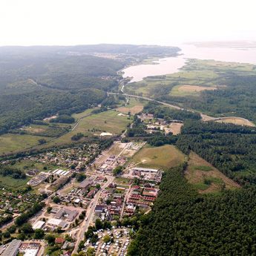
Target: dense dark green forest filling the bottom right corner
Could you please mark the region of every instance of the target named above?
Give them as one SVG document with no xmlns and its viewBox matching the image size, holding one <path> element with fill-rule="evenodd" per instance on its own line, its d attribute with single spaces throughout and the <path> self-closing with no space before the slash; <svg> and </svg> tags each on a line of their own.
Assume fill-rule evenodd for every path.
<svg viewBox="0 0 256 256">
<path fill-rule="evenodd" d="M 200 195 L 183 177 L 184 167 L 163 175 L 128 255 L 255 255 L 256 188 Z"/>
</svg>

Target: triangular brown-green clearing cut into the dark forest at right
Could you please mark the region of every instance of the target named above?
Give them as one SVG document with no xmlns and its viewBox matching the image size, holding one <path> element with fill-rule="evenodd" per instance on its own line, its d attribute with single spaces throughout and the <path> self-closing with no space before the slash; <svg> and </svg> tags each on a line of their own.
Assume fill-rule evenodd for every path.
<svg viewBox="0 0 256 256">
<path fill-rule="evenodd" d="M 194 152 L 189 154 L 185 177 L 202 194 L 240 187 Z"/>
</svg>

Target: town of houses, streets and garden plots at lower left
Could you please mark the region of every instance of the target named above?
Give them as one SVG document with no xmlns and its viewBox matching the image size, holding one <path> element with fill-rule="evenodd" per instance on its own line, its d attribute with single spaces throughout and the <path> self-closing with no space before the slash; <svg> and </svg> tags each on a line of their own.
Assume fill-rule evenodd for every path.
<svg viewBox="0 0 256 256">
<path fill-rule="evenodd" d="M 116 140 L 102 151 L 94 144 L 19 159 L 49 168 L 27 170 L 27 190 L 20 193 L 1 188 L 1 220 L 10 233 L 27 207 L 42 202 L 43 208 L 28 220 L 28 232 L 47 235 L 45 240 L 18 235 L 0 253 L 64 256 L 91 250 L 95 255 L 126 255 L 134 232 L 128 218 L 151 209 L 163 175 L 161 169 L 131 161 L 143 146 L 142 141 Z"/>
</svg>

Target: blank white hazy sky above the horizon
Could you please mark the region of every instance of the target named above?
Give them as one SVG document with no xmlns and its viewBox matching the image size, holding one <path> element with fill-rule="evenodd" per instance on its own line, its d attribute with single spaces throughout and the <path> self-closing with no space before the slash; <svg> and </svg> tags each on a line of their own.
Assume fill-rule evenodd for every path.
<svg viewBox="0 0 256 256">
<path fill-rule="evenodd" d="M 0 45 L 256 40 L 255 0 L 0 0 Z"/>
</svg>

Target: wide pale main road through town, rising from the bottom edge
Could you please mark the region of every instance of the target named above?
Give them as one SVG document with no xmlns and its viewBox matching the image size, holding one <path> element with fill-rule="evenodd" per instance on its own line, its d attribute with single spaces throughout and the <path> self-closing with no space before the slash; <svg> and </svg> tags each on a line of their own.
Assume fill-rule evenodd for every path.
<svg viewBox="0 0 256 256">
<path fill-rule="evenodd" d="M 91 223 L 93 223 L 93 217 L 94 217 L 94 210 L 96 207 L 96 204 L 98 203 L 99 196 L 105 188 L 108 187 L 110 183 L 112 183 L 114 180 L 114 177 L 108 177 L 108 181 L 102 186 L 102 188 L 98 191 L 98 193 L 93 197 L 93 200 L 91 200 L 90 205 L 88 206 L 88 210 L 86 212 L 86 217 L 85 220 L 81 224 L 80 232 L 78 234 L 77 240 L 76 240 L 76 245 L 73 249 L 73 253 L 77 252 L 78 246 L 80 241 L 82 241 L 85 237 L 85 232 L 88 230 L 88 227 L 90 226 Z"/>
</svg>

